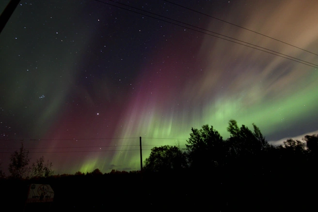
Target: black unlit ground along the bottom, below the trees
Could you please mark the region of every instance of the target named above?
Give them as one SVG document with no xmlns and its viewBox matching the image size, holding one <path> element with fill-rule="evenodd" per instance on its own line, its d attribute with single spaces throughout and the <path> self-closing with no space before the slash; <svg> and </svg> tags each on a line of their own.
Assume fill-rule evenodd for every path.
<svg viewBox="0 0 318 212">
<path fill-rule="evenodd" d="M 104 174 L 1 180 L 1 206 L 10 211 L 311 211 L 317 174 L 284 170 L 275 174 L 179 172 Z M 219 174 L 217 174 L 219 173 Z M 244 173 L 244 174 L 243 174 Z M 27 203 L 29 185 L 49 184 L 52 203 Z M 2 211 L 2 210 L 1 210 Z"/>
</svg>

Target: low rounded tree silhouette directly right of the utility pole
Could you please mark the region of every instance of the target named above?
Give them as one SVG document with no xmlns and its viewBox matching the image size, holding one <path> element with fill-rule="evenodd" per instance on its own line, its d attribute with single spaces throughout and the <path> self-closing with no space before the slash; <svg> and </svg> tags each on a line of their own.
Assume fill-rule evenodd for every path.
<svg viewBox="0 0 318 212">
<path fill-rule="evenodd" d="M 151 149 L 151 153 L 144 161 L 147 171 L 171 171 L 187 167 L 186 154 L 176 146 L 161 146 Z"/>
</svg>

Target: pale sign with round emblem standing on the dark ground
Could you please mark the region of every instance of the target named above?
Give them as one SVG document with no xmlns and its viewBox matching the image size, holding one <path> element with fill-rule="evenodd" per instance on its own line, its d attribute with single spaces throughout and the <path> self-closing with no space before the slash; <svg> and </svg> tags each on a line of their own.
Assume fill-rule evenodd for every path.
<svg viewBox="0 0 318 212">
<path fill-rule="evenodd" d="M 27 202 L 52 202 L 53 189 L 47 184 L 31 184 Z"/>
</svg>

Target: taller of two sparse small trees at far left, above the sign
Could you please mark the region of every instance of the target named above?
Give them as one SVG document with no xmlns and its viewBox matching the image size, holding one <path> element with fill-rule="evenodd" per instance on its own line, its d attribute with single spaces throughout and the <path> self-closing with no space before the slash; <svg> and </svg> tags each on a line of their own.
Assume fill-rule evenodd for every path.
<svg viewBox="0 0 318 212">
<path fill-rule="evenodd" d="M 11 154 L 10 161 L 9 172 L 12 178 L 23 179 L 28 176 L 30 170 L 30 167 L 28 167 L 30 162 L 29 151 L 24 149 L 23 143 L 21 143 L 19 151 Z"/>
</svg>

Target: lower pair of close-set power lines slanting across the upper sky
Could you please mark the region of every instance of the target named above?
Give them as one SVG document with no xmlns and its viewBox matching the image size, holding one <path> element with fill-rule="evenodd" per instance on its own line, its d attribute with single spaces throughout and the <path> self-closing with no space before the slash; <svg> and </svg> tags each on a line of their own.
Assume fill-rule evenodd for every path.
<svg viewBox="0 0 318 212">
<path fill-rule="evenodd" d="M 244 44 L 241 44 L 241 43 L 238 43 L 238 42 L 235 42 L 235 41 L 226 39 L 226 38 L 230 38 L 230 39 L 233 39 L 233 40 L 236 40 L 236 41 L 239 41 L 239 42 L 248 44 L 248 45 L 244 45 L 244 46 L 247 46 L 247 47 L 250 47 L 250 48 L 254 48 L 254 49 L 259 50 L 259 51 L 267 52 L 267 53 L 269 53 L 269 54 L 272 54 L 272 55 L 275 55 L 275 56 L 279 56 L 279 57 L 282 57 L 282 58 L 285 58 L 285 59 L 288 59 L 288 60 L 291 60 L 291 61 L 299 62 L 299 63 L 302 63 L 302 64 L 304 64 L 304 65 L 311 66 L 311 67 L 313 67 L 313 68 L 318 68 L 318 65 L 317 65 L 317 64 L 314 64 L 314 63 L 311 63 L 311 62 L 307 62 L 307 61 L 303 61 L 303 60 L 301 60 L 301 59 L 294 58 L 294 57 L 292 57 L 292 56 L 289 56 L 289 55 L 286 55 L 286 54 L 283 54 L 283 53 L 280 53 L 280 52 L 276 52 L 276 51 L 273 51 L 273 50 L 268 49 L 268 48 L 264 48 L 264 47 L 261 47 L 261 46 L 258 46 L 258 45 L 254 45 L 254 44 L 251 44 L 251 43 L 248 43 L 248 42 L 244 42 L 244 41 L 241 41 L 241 40 L 239 40 L 239 39 L 232 38 L 232 37 L 229 37 L 229 36 L 226 36 L 226 35 L 217 33 L 217 32 L 213 32 L 213 31 L 206 30 L 206 29 L 203 29 L 203 28 L 200 28 L 200 27 L 196 27 L 196 26 L 193 26 L 193 25 L 190 25 L 190 24 L 187 24 L 187 23 L 184 23 L 184 22 L 181 22 L 181 21 L 172 19 L 172 18 L 168 18 L 168 17 L 162 16 L 162 15 L 158 15 L 158 14 L 155 14 L 155 13 L 151 13 L 151 12 L 148 12 L 148 11 L 145 11 L 145 10 L 142 10 L 142 9 L 139 9 L 139 8 L 136 8 L 136 7 L 127 5 L 127 4 L 123 4 L 123 3 L 119 3 L 119 2 L 116 2 L 116 1 L 113 1 L 113 0 L 109 0 L 109 1 L 114 2 L 114 3 L 122 4 L 122 5 L 125 5 L 125 6 L 127 6 L 127 7 L 134 8 L 134 9 L 136 9 L 136 10 L 143 11 L 143 12 L 145 12 L 145 13 L 149 13 L 149 14 L 152 14 L 152 15 L 157 15 L 157 16 L 159 16 L 159 17 L 163 17 L 163 18 L 166 18 L 166 19 L 169 19 L 169 20 L 172 20 L 172 21 L 181 23 L 181 24 L 185 24 L 185 25 L 188 25 L 188 26 L 191 26 L 191 27 L 200 29 L 200 30 L 205 30 L 205 31 L 208 31 L 208 32 L 217 34 L 217 35 L 221 35 L 221 36 L 226 37 L 226 38 L 222 38 L 222 37 L 219 37 L 219 36 L 216 36 L 216 35 L 213 35 L 213 34 L 209 34 L 209 33 L 207 33 L 207 32 L 203 32 L 203 31 L 200 31 L 200 30 L 194 30 L 194 29 L 189 28 L 189 27 L 185 27 L 185 26 L 182 26 L 182 25 L 179 25 L 179 24 L 170 22 L 170 21 L 166 21 L 166 20 L 163 20 L 163 19 L 160 19 L 160 18 L 157 18 L 157 17 L 153 17 L 153 16 L 150 16 L 150 15 L 145 15 L 145 14 L 139 13 L 139 12 L 137 12 L 137 11 L 132 11 L 132 10 L 126 9 L 126 8 L 124 8 L 124 7 L 120 7 L 120 6 L 117 6 L 117 5 L 113 5 L 113 4 L 110 4 L 110 3 L 107 3 L 107 2 L 103 2 L 103 1 L 100 1 L 100 0 L 95 0 L 95 1 L 98 1 L 98 2 L 101 2 L 101 3 L 104 3 L 104 4 L 107 4 L 107 5 L 111 5 L 111 6 L 114 6 L 114 7 L 117 7 L 117 8 L 121 8 L 121 9 L 127 10 L 127 11 L 129 11 L 129 12 L 133 12 L 133 13 L 137 13 L 137 14 L 140 14 L 140 15 L 144 15 L 144 16 L 147 16 L 147 17 L 151 17 L 151 18 L 154 18 L 154 19 L 157 19 L 157 20 L 160 20 L 160 21 L 164 21 L 164 22 L 170 23 L 170 24 L 174 24 L 174 25 L 176 25 L 176 26 L 183 27 L 183 28 L 186 28 L 186 29 L 189 29 L 189 30 L 201 32 L 201 33 L 204 33 L 204 34 L 207 34 L 207 35 L 216 37 L 216 38 L 220 38 L 220 39 L 223 39 L 223 40 L 226 40 L 226 41 L 230 41 L 230 42 L 232 42 L 232 43 L 236 43 L 236 44 L 239 44 L 239 45 L 244 45 Z M 253 46 L 250 46 L 250 45 L 256 46 L 256 47 L 258 47 L 258 48 L 253 47 Z M 271 51 L 271 52 L 268 52 L 268 51 L 265 51 L 265 50 L 262 50 L 262 49 L 259 49 L 259 48 L 266 49 L 266 50 Z M 274 53 L 272 53 L 272 52 L 274 52 Z M 286 56 L 286 57 L 281 56 L 281 55 L 277 55 L 277 54 L 275 54 L 275 53 L 284 55 L 284 56 Z M 287 58 L 287 57 L 290 57 L 290 58 Z M 291 59 L 291 58 L 293 58 L 293 59 Z M 295 59 L 295 60 L 294 60 L 294 59 Z M 298 60 L 298 61 L 296 61 L 296 60 Z M 301 61 L 303 61 L 303 62 L 301 62 Z M 304 62 L 306 62 L 306 63 L 304 63 Z M 308 63 L 308 64 L 307 64 L 307 63 Z M 312 64 L 312 65 L 309 65 L 309 64 Z M 313 66 L 313 65 L 315 65 L 315 66 Z"/>
</svg>

